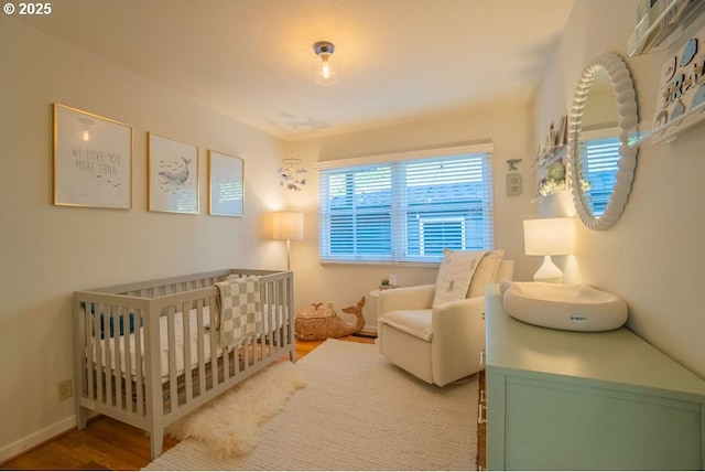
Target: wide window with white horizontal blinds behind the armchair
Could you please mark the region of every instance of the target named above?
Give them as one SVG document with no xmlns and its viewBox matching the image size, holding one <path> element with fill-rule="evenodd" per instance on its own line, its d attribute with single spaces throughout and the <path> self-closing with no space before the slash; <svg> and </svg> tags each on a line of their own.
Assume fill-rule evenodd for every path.
<svg viewBox="0 0 705 472">
<path fill-rule="evenodd" d="M 491 147 L 482 149 L 322 164 L 321 260 L 436 262 L 444 248 L 491 249 Z"/>
</svg>

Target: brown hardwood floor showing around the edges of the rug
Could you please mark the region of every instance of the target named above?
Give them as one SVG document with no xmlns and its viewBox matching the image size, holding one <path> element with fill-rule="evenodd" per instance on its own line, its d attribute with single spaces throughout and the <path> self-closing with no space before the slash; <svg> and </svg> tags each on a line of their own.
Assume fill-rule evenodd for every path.
<svg viewBox="0 0 705 472">
<path fill-rule="evenodd" d="M 370 337 L 340 340 L 373 343 Z M 296 358 L 323 341 L 296 341 Z M 289 361 L 283 356 L 282 361 Z M 165 437 L 164 451 L 177 441 Z M 0 470 L 140 470 L 151 462 L 150 439 L 141 429 L 108 417 L 93 419 L 83 430 L 74 429 L 0 465 Z"/>
</svg>

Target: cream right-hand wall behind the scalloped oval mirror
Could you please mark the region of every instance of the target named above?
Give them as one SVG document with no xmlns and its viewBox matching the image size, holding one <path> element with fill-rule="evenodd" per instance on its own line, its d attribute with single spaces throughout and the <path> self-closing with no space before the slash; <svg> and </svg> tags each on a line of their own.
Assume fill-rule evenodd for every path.
<svg viewBox="0 0 705 472">
<path fill-rule="evenodd" d="M 606 52 L 626 56 L 638 3 L 576 0 L 538 96 L 540 126 L 570 111 L 575 84 L 588 62 Z M 627 58 L 641 120 L 651 121 L 666 57 L 663 52 Z M 702 126 L 672 144 L 642 146 L 621 219 L 607 232 L 578 224 L 578 254 L 566 273 L 623 297 L 630 308 L 628 326 L 701 377 L 705 377 L 705 311 L 698 296 L 705 281 L 704 146 Z"/>
</svg>

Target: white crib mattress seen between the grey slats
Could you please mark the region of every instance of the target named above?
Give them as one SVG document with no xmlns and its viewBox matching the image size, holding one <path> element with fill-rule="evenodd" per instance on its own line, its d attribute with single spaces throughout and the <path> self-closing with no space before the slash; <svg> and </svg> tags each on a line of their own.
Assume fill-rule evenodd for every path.
<svg viewBox="0 0 705 472">
<path fill-rule="evenodd" d="M 265 334 L 271 331 L 274 331 L 278 328 L 282 326 L 283 320 L 285 319 L 285 307 L 274 307 L 274 305 L 265 305 L 263 307 L 262 315 L 262 333 L 257 333 L 257 335 Z M 269 315 L 270 311 L 275 313 L 274 320 L 270 322 L 271 317 Z M 203 345 L 204 360 L 205 362 L 209 362 L 212 360 L 212 342 L 210 335 L 210 312 L 209 307 L 204 307 L 203 309 L 203 326 L 204 333 L 200 340 L 200 345 Z M 176 375 L 182 375 L 185 372 L 185 340 L 184 340 L 184 317 L 182 312 L 174 313 L 174 350 L 175 350 L 175 368 Z M 191 346 L 191 355 L 188 369 L 193 369 L 198 366 L 198 355 L 199 355 L 199 340 L 198 340 L 198 320 L 196 310 L 191 310 L 187 317 L 187 322 L 189 325 L 189 346 Z M 273 326 L 270 329 L 270 324 Z M 144 374 L 144 326 L 140 326 L 139 330 L 135 329 L 134 332 L 124 335 L 119 335 L 115 337 L 106 337 L 105 340 L 100 340 L 98 337 L 94 337 L 90 345 L 93 346 L 93 353 L 90 357 L 93 358 L 94 364 L 106 368 L 109 364 L 111 373 L 117 373 L 118 371 L 118 357 L 120 358 L 120 373 L 122 376 L 127 376 L 128 374 L 128 351 L 129 351 L 129 375 L 134 378 L 138 375 L 137 363 L 138 363 L 138 350 L 137 350 L 137 340 L 139 331 L 139 340 L 140 340 L 140 353 L 142 358 L 142 374 Z M 217 333 L 217 332 L 216 332 Z M 216 334 L 217 335 L 217 334 Z M 129 341 L 127 340 L 129 337 Z M 161 377 L 162 380 L 166 380 L 170 374 L 170 350 L 169 350 L 169 324 L 166 317 L 160 317 L 160 365 L 161 365 Z M 216 346 L 216 357 L 223 354 L 223 350 L 217 346 L 218 340 L 216 339 L 213 343 Z M 116 345 L 119 347 L 116 348 Z M 129 350 L 127 348 L 129 346 Z M 119 353 L 119 355 L 118 355 Z M 109 360 L 109 362 L 108 362 Z"/>
</svg>

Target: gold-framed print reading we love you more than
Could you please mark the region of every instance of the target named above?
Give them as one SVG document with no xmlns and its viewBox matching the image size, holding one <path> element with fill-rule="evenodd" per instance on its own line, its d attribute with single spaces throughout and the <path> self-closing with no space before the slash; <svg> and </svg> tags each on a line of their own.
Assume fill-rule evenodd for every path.
<svg viewBox="0 0 705 472">
<path fill-rule="evenodd" d="M 54 205 L 132 207 L 132 127 L 53 104 Z"/>
</svg>

